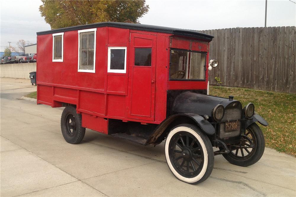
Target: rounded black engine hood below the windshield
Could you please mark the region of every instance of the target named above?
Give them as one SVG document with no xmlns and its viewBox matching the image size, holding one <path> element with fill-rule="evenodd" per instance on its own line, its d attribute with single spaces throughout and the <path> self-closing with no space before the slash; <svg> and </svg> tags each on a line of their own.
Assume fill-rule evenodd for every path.
<svg viewBox="0 0 296 197">
<path fill-rule="evenodd" d="M 235 106 L 242 109 L 242 104 L 237 100 L 196 92 L 183 92 L 176 97 L 173 103 L 173 113 L 194 113 L 211 117 L 213 108 L 218 104 L 223 105 L 224 108 Z"/>
</svg>

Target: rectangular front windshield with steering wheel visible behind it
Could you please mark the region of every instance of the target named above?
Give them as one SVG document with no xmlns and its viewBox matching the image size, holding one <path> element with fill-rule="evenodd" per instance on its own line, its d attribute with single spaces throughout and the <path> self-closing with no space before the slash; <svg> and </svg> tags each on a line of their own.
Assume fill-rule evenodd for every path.
<svg viewBox="0 0 296 197">
<path fill-rule="evenodd" d="M 170 80 L 205 80 L 205 52 L 170 50 Z"/>
</svg>

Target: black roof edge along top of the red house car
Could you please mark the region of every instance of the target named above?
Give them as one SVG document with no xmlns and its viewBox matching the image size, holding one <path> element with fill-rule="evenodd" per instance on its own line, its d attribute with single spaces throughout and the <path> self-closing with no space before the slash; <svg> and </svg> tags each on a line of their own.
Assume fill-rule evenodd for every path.
<svg viewBox="0 0 296 197">
<path fill-rule="evenodd" d="M 198 38 L 198 39 L 208 40 L 208 41 L 211 41 L 214 38 L 214 36 L 207 35 L 204 33 L 193 31 L 193 30 L 177 29 L 177 28 L 171 28 L 171 27 L 161 27 L 161 26 L 155 26 L 155 25 L 124 23 L 124 22 L 99 22 L 99 23 L 93 23 L 93 24 L 87 24 L 87 25 L 78 25 L 78 26 L 73 26 L 73 27 L 65 27 L 65 28 L 61 28 L 61 29 L 37 32 L 37 35 L 60 33 L 60 32 L 73 31 L 73 30 L 91 29 L 91 28 L 97 28 L 97 27 L 118 27 L 118 28 L 122 28 L 122 29 L 169 33 L 169 34 L 173 34 L 173 35 Z"/>
</svg>

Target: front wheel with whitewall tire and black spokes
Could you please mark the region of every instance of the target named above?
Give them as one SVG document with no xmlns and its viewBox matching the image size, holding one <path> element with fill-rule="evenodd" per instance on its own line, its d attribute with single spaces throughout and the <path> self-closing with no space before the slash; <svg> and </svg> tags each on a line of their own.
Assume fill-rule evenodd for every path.
<svg viewBox="0 0 296 197">
<path fill-rule="evenodd" d="M 186 183 L 206 180 L 214 166 L 209 138 L 192 124 L 174 127 L 165 140 L 165 158 L 173 175 Z"/>
</svg>

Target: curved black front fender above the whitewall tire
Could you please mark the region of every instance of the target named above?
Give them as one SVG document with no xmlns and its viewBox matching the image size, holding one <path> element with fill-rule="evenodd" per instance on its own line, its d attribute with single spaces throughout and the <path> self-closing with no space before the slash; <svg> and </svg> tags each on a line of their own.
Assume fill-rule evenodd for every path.
<svg viewBox="0 0 296 197">
<path fill-rule="evenodd" d="M 209 121 L 205 120 L 202 116 L 193 114 L 193 113 L 182 113 L 171 115 L 166 118 L 159 126 L 153 131 L 149 139 L 147 140 L 147 144 L 158 144 L 165 138 L 166 134 L 169 132 L 168 128 L 173 121 L 178 118 L 188 117 L 191 118 L 197 126 L 199 126 L 202 131 L 208 135 L 215 134 L 215 128 Z"/>
</svg>

